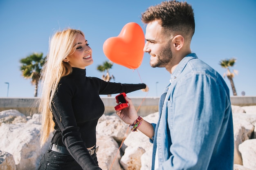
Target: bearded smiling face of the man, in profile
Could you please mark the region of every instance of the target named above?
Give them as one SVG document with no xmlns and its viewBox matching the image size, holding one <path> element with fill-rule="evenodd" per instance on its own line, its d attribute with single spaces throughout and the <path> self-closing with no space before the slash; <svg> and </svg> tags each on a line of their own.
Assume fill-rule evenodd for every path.
<svg viewBox="0 0 256 170">
<path fill-rule="evenodd" d="M 171 62 L 173 56 L 171 44 L 168 39 L 169 35 L 163 35 L 162 26 L 157 21 L 148 23 L 146 27 L 146 44 L 144 52 L 151 55 L 151 67 L 166 67 Z"/>
</svg>

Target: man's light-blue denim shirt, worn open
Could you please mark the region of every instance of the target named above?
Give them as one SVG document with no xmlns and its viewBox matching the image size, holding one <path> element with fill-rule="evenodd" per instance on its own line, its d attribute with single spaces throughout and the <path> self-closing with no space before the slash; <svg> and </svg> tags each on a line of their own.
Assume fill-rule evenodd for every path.
<svg viewBox="0 0 256 170">
<path fill-rule="evenodd" d="M 233 170 L 234 135 L 229 88 L 195 53 L 184 57 L 159 100 L 155 128 L 158 170 Z"/>
</svg>

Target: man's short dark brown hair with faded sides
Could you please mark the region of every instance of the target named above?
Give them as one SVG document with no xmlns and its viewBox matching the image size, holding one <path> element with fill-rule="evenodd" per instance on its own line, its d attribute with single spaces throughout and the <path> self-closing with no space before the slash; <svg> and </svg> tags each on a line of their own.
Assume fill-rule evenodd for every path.
<svg viewBox="0 0 256 170">
<path fill-rule="evenodd" d="M 149 7 L 141 14 L 141 21 L 148 24 L 157 20 L 169 35 L 182 35 L 191 40 L 195 32 L 193 9 L 187 2 L 164 1 Z"/>
</svg>

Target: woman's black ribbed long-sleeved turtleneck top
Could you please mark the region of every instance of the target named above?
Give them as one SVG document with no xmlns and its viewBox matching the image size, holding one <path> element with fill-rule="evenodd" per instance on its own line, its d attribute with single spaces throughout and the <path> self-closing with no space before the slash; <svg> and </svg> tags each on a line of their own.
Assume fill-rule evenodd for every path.
<svg viewBox="0 0 256 170">
<path fill-rule="evenodd" d="M 72 68 L 62 77 L 53 99 L 53 119 L 56 130 L 52 143 L 66 146 L 70 155 L 84 170 L 99 170 L 87 148 L 96 145 L 96 125 L 104 113 L 99 95 L 129 93 L 146 88 L 146 84 L 105 82 L 86 77 L 85 69 Z"/>
</svg>

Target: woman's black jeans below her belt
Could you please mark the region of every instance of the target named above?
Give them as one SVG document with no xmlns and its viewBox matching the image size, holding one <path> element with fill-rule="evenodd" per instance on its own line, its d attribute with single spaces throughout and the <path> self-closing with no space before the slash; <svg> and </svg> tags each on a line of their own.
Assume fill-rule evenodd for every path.
<svg viewBox="0 0 256 170">
<path fill-rule="evenodd" d="M 91 155 L 91 157 L 98 165 L 96 153 Z M 83 170 L 83 168 L 71 155 L 65 155 L 48 149 L 40 160 L 38 170 Z"/>
</svg>

